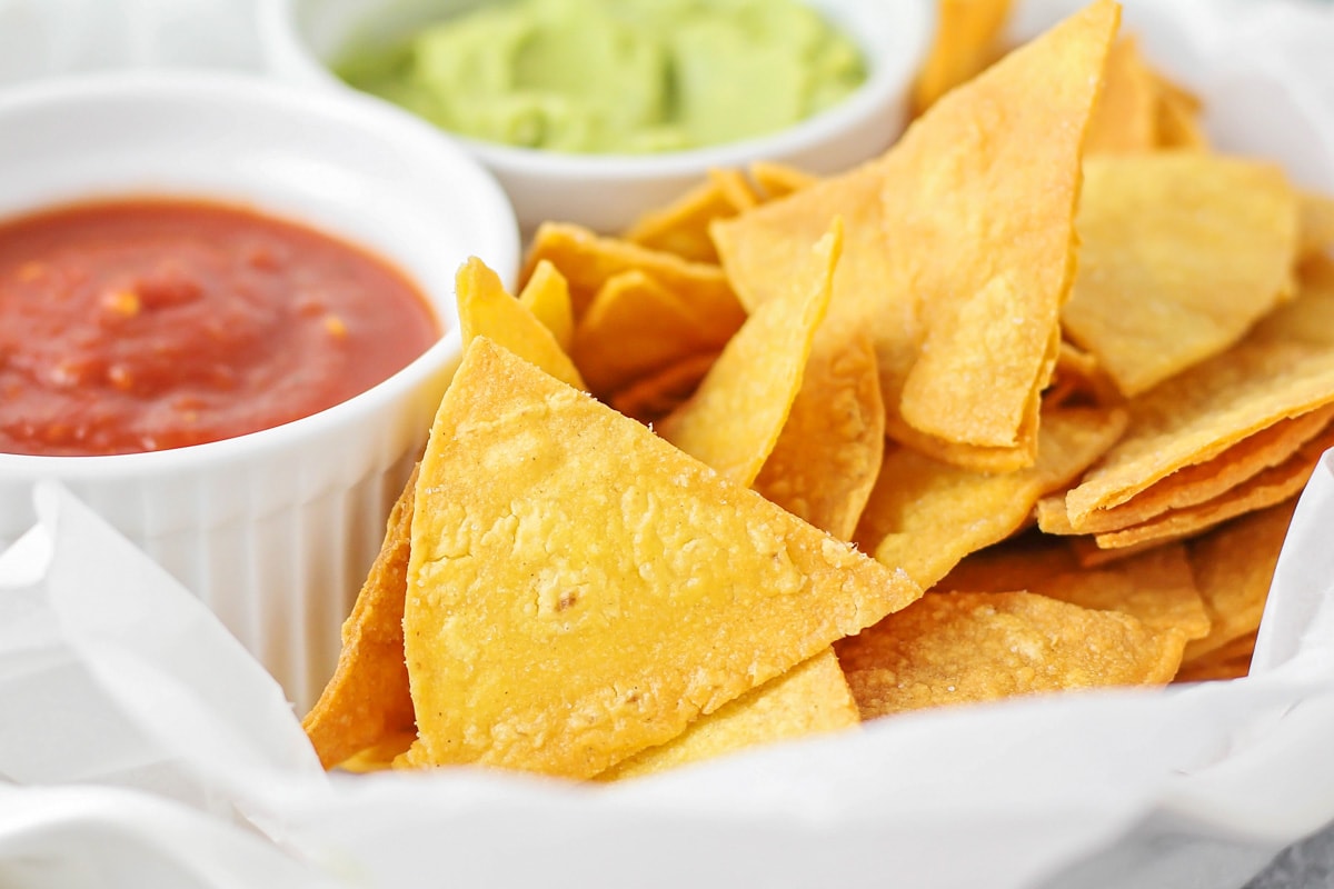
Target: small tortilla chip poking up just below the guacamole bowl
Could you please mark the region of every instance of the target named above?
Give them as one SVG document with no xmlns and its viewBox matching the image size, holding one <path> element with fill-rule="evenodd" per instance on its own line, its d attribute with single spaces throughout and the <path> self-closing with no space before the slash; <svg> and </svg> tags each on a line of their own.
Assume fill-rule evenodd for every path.
<svg viewBox="0 0 1334 889">
<path fill-rule="evenodd" d="M 692 263 L 716 263 L 718 251 L 708 237 L 708 224 L 756 203 L 740 172 L 714 169 L 708 179 L 676 201 L 644 213 L 626 231 L 624 239 Z"/>
</svg>

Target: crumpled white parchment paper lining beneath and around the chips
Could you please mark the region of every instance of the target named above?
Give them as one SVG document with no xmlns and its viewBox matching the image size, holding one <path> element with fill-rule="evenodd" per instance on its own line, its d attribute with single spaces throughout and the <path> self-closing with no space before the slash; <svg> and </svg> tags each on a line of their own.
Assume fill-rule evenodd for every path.
<svg viewBox="0 0 1334 889">
<path fill-rule="evenodd" d="M 1078 5 L 1027 3 L 1017 35 Z M 1225 148 L 1334 193 L 1334 9 L 1145 0 L 1126 27 Z M 188 590 L 64 490 L 37 506 L 0 556 L 0 885 L 1223 888 L 1334 818 L 1330 454 L 1250 678 L 906 716 L 610 788 L 325 776 Z"/>
</svg>

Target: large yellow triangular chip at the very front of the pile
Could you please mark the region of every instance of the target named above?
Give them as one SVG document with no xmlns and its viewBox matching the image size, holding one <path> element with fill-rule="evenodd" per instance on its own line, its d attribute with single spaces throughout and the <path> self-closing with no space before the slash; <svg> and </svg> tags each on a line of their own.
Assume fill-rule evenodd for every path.
<svg viewBox="0 0 1334 889">
<path fill-rule="evenodd" d="M 919 594 L 479 337 L 418 480 L 406 762 L 591 777 Z"/>
</svg>

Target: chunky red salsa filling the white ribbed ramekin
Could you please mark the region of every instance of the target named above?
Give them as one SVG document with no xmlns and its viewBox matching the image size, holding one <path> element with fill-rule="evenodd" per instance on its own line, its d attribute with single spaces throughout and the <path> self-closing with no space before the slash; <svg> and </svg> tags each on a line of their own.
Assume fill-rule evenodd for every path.
<svg viewBox="0 0 1334 889">
<path fill-rule="evenodd" d="M 0 224 L 0 453 L 229 439 L 370 389 L 439 339 L 387 263 L 209 203 L 88 204 Z"/>
</svg>

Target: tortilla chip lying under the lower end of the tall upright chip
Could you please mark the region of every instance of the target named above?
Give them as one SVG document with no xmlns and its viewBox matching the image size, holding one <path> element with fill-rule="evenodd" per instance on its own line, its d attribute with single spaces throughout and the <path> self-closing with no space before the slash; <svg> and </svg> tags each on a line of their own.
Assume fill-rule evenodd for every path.
<svg viewBox="0 0 1334 889">
<path fill-rule="evenodd" d="M 1042 425 L 1037 464 L 1007 474 L 968 472 L 906 448 L 891 450 L 854 540 L 930 588 L 968 553 L 1022 528 L 1038 498 L 1097 460 L 1125 423 L 1119 411 L 1053 412 Z"/>
</svg>

